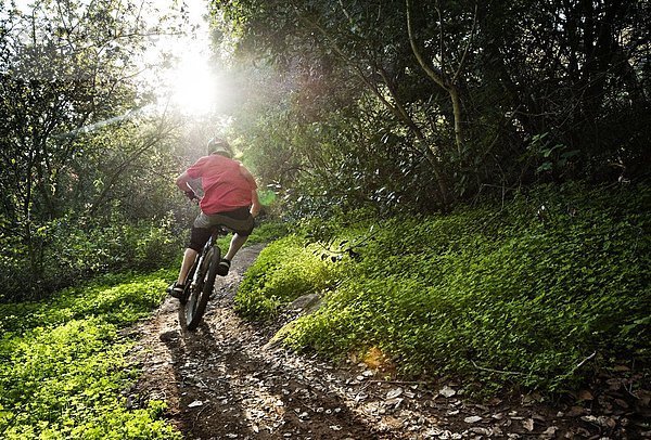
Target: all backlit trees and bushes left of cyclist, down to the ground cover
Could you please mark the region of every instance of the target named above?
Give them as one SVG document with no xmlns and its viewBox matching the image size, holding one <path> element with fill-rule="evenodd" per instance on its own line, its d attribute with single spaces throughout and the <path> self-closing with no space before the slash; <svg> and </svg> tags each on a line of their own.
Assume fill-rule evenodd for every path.
<svg viewBox="0 0 651 440">
<path fill-rule="evenodd" d="M 180 15 L 144 24 L 155 5 L 130 0 L 5 3 L 0 302 L 41 298 L 107 269 L 159 267 L 181 200 L 178 124 L 132 111 L 154 99 L 136 79 L 154 43 L 145 35 Z"/>
</svg>

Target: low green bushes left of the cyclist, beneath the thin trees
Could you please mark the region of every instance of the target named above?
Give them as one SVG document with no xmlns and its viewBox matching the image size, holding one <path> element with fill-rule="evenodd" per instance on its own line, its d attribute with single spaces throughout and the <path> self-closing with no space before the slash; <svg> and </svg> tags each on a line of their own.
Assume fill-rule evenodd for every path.
<svg viewBox="0 0 651 440">
<path fill-rule="evenodd" d="M 102 221 L 64 217 L 39 229 L 42 272 L 35 273 L 20 240 L 0 234 L 7 251 L 0 274 L 7 280 L 1 301 L 42 298 L 89 275 L 124 270 L 152 270 L 178 259 L 186 232 L 175 232 L 168 217 L 128 222 L 120 216 Z"/>
</svg>

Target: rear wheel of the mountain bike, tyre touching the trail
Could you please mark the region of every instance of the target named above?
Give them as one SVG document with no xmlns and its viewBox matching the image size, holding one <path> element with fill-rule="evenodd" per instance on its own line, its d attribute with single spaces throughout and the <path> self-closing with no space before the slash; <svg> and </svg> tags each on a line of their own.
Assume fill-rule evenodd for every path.
<svg viewBox="0 0 651 440">
<path fill-rule="evenodd" d="M 206 311 L 208 298 L 210 298 L 213 287 L 215 286 L 217 267 L 220 260 L 221 251 L 219 247 L 210 246 L 202 261 L 202 267 L 197 268 L 200 271 L 200 282 L 190 288 L 190 296 L 188 297 L 188 302 L 186 302 L 186 323 L 190 331 L 199 326 Z"/>
</svg>

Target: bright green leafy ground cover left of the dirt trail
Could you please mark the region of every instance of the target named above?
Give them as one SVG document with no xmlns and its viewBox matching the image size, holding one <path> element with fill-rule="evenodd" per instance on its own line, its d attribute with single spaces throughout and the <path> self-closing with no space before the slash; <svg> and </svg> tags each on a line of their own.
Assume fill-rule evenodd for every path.
<svg viewBox="0 0 651 440">
<path fill-rule="evenodd" d="M 48 301 L 0 305 L 0 438 L 177 439 L 165 403 L 127 409 L 137 376 L 120 328 L 161 303 L 174 272 L 106 275 Z"/>
</svg>

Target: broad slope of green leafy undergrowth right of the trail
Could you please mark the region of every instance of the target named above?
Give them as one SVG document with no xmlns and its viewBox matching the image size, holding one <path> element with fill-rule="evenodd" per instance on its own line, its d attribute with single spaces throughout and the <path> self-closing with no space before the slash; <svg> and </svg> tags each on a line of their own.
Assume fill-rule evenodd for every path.
<svg viewBox="0 0 651 440">
<path fill-rule="evenodd" d="M 403 374 L 483 389 L 561 391 L 622 363 L 648 380 L 649 207 L 643 185 L 546 186 L 445 217 L 312 221 L 261 253 L 237 307 L 269 318 L 321 293 L 290 346 L 381 350 Z"/>
</svg>

